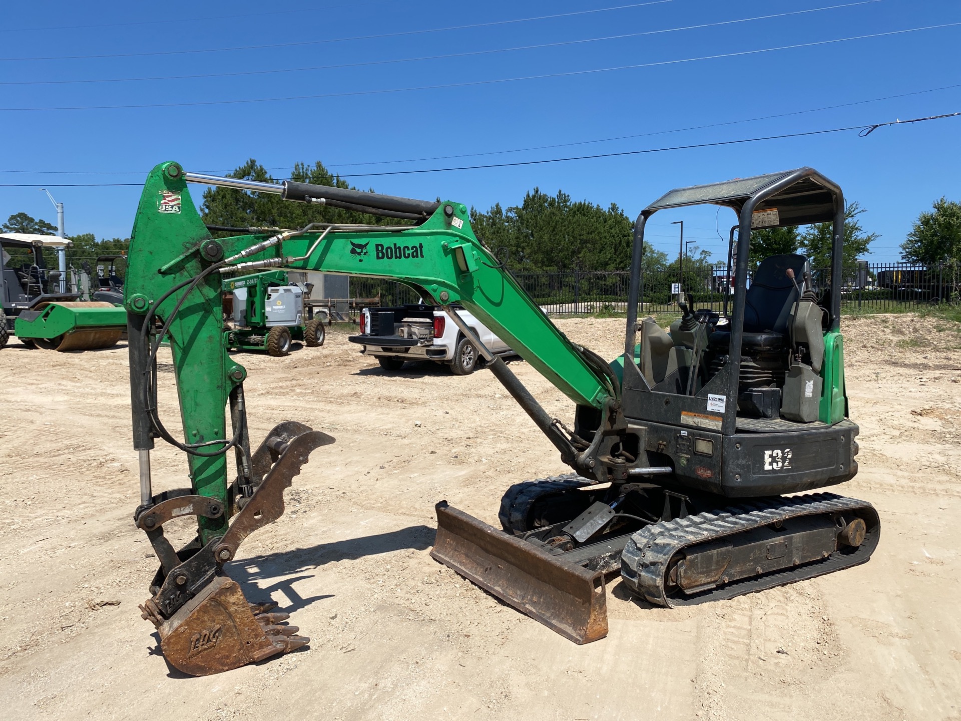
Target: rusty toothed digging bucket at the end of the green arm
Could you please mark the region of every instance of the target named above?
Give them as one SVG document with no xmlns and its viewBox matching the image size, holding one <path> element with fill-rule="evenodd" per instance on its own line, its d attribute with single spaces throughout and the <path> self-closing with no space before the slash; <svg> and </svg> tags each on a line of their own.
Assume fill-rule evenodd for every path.
<svg viewBox="0 0 961 721">
<path fill-rule="evenodd" d="M 248 603 L 235 581 L 217 576 L 158 626 L 160 649 L 184 673 L 208 676 L 306 645 L 296 626 L 279 625 L 286 613 L 264 612 L 272 607 Z"/>
</svg>

